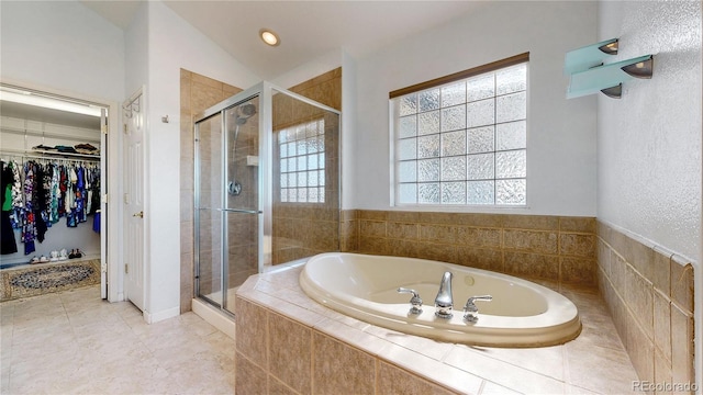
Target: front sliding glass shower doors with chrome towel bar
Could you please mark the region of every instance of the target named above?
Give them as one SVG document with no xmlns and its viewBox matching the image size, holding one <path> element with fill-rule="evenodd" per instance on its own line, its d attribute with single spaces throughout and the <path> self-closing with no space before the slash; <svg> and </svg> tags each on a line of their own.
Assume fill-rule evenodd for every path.
<svg viewBox="0 0 703 395">
<path fill-rule="evenodd" d="M 196 292 L 234 314 L 236 287 L 258 272 L 258 97 L 196 127 Z"/>
</svg>

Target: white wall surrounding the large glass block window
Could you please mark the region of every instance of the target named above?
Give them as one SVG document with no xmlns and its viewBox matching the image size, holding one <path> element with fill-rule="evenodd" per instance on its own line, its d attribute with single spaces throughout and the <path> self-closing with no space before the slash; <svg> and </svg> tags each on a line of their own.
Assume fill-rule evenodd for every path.
<svg viewBox="0 0 703 395">
<path fill-rule="evenodd" d="M 567 50 L 594 42 L 595 26 L 595 2 L 491 2 L 357 59 L 350 206 L 389 208 L 390 91 L 529 52 L 529 207 L 493 211 L 594 216 L 595 99 L 565 100 L 562 68 Z"/>
</svg>

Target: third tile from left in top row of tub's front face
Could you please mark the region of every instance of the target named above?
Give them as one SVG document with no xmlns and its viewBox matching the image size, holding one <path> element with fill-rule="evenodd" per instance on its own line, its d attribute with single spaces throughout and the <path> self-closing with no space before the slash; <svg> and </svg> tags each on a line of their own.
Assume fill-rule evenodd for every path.
<svg viewBox="0 0 703 395">
<path fill-rule="evenodd" d="M 313 334 L 315 394 L 373 394 L 376 359 L 326 335 Z"/>
</svg>

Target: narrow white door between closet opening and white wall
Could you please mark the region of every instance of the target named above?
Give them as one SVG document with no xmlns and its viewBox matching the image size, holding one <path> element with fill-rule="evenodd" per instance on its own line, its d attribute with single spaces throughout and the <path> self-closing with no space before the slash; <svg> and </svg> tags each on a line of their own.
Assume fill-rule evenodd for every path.
<svg viewBox="0 0 703 395">
<path fill-rule="evenodd" d="M 144 311 L 144 97 L 124 105 L 124 293 Z"/>
</svg>

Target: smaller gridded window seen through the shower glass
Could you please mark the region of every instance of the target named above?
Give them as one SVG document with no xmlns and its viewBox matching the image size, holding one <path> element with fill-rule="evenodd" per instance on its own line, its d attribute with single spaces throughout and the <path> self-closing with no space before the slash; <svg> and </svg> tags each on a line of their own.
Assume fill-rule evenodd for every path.
<svg viewBox="0 0 703 395">
<path fill-rule="evenodd" d="M 281 202 L 325 202 L 324 134 L 323 120 L 278 132 Z"/>
</svg>

